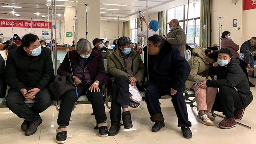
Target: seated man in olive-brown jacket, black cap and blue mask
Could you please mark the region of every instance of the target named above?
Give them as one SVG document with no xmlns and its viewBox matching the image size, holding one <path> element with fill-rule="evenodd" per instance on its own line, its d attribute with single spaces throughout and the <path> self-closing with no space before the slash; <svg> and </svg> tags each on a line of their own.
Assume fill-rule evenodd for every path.
<svg viewBox="0 0 256 144">
<path fill-rule="evenodd" d="M 131 44 L 129 37 L 120 37 L 117 41 L 118 47 L 113 49 L 113 53 L 108 57 L 108 73 L 113 81 L 109 136 L 118 134 L 121 115 L 124 129 L 132 128 L 131 113 L 128 111 L 129 84 L 141 85 L 145 66 L 140 53 L 132 49 Z"/>
</svg>

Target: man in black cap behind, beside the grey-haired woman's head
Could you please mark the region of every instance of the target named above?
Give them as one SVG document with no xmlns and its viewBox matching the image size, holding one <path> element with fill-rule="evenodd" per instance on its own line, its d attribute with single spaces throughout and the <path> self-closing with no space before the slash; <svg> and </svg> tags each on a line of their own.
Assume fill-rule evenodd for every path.
<svg viewBox="0 0 256 144">
<path fill-rule="evenodd" d="M 110 52 L 109 52 L 108 48 L 106 48 L 104 46 L 103 40 L 104 39 L 98 39 L 98 38 L 94 39 L 93 40 L 93 45 L 94 45 L 93 50 L 95 50 L 97 52 L 101 52 L 102 59 L 107 59 L 108 55 L 110 55 Z"/>
</svg>

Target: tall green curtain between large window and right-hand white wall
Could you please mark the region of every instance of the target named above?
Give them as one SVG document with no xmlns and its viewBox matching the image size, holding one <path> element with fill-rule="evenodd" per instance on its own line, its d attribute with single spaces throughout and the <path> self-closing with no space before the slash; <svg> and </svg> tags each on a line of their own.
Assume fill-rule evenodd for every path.
<svg viewBox="0 0 256 144">
<path fill-rule="evenodd" d="M 211 1 L 201 0 L 199 43 L 204 48 L 211 46 Z"/>
</svg>

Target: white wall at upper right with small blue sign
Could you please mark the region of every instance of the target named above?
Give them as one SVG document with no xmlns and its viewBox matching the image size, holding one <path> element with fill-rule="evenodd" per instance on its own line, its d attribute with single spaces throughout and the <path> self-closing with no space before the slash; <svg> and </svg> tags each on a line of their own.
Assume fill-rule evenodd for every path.
<svg viewBox="0 0 256 144">
<path fill-rule="evenodd" d="M 230 0 L 212 0 L 211 17 L 212 43 L 219 43 L 219 24 L 216 20 L 218 17 L 222 17 L 222 31 L 230 31 L 233 41 L 239 46 L 256 36 L 256 9 L 243 11 L 243 0 L 237 0 L 236 4 L 230 4 Z M 233 19 L 237 19 L 237 27 L 233 27 Z"/>
</svg>

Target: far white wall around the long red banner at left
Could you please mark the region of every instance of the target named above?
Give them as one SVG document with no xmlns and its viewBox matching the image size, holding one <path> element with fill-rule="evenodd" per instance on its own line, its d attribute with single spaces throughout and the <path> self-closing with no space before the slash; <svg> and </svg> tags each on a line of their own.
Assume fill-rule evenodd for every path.
<svg viewBox="0 0 256 144">
<path fill-rule="evenodd" d="M 0 18 L 0 19 L 11 19 L 11 18 Z M 15 20 L 31 20 L 29 18 L 15 18 Z M 42 19 L 33 19 L 35 21 L 43 21 Z M 54 24 L 54 23 L 53 23 Z M 60 20 L 56 20 L 56 25 L 57 25 L 57 40 L 59 39 L 59 33 L 60 33 Z M 27 30 L 25 30 L 27 29 Z M 32 27 L 32 33 L 35 33 L 39 39 L 43 39 L 43 37 L 46 38 L 50 38 L 50 35 L 42 35 L 42 31 L 48 31 L 48 29 L 41 29 L 41 28 L 33 28 Z M 51 33 L 51 29 L 49 27 L 49 31 Z M 0 27 L 0 33 L 4 34 L 4 37 L 12 37 L 11 36 L 11 27 Z M 19 37 L 22 37 L 23 35 L 25 35 L 26 33 L 28 34 L 28 28 L 13 28 L 13 34 L 17 33 L 17 35 L 19 35 Z M 54 32 L 53 32 L 54 33 Z M 63 32 L 62 32 L 63 33 Z M 59 43 L 59 41 L 57 41 Z M 71 41 L 72 43 L 72 41 Z"/>
</svg>

